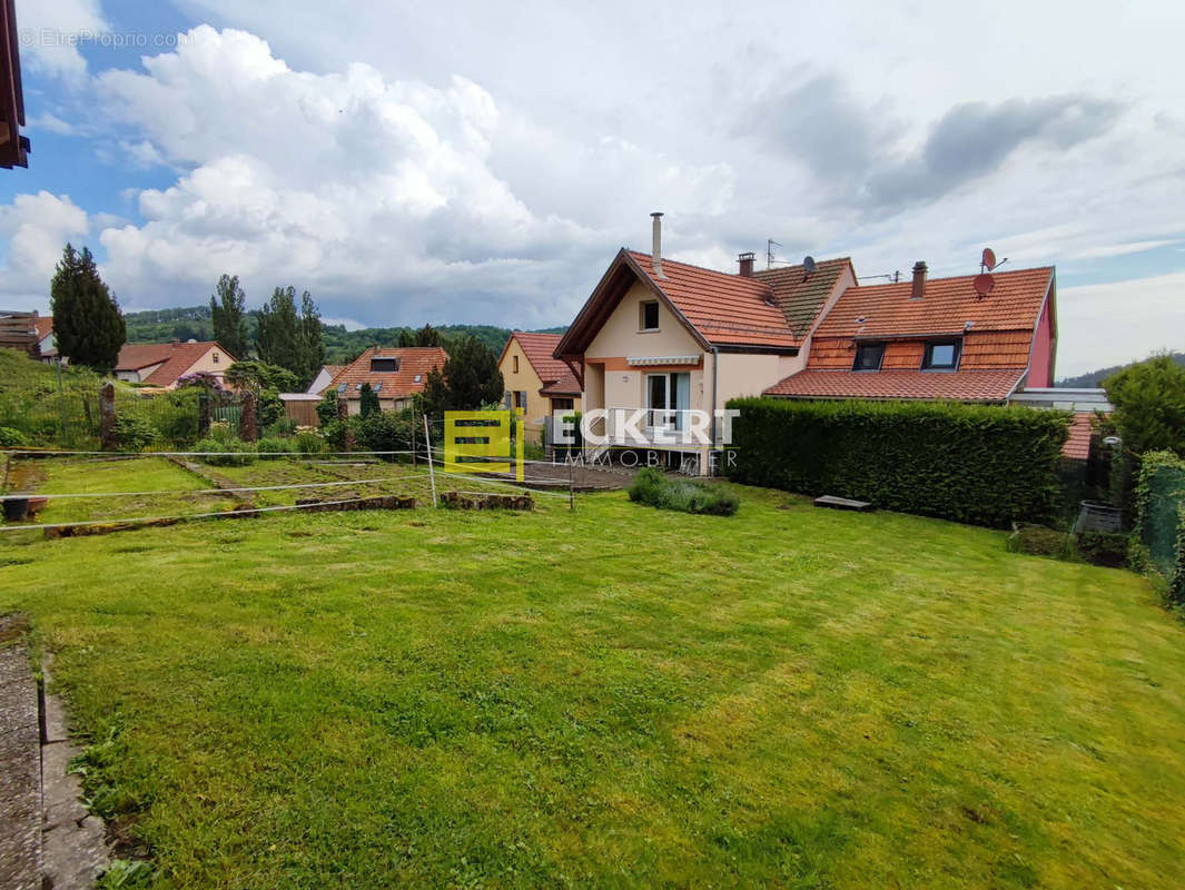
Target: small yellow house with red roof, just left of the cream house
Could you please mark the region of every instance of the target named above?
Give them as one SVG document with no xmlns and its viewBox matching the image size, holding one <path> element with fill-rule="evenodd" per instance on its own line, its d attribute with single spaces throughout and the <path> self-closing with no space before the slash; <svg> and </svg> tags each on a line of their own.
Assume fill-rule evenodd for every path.
<svg viewBox="0 0 1185 890">
<path fill-rule="evenodd" d="M 551 354 L 559 339 L 559 334 L 515 331 L 498 359 L 506 388 L 505 405 L 523 410 L 531 438 L 540 436 L 547 417 L 572 410 L 581 397 L 576 374 Z"/>
</svg>

